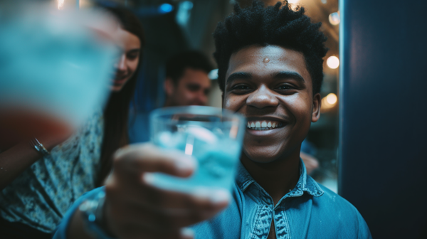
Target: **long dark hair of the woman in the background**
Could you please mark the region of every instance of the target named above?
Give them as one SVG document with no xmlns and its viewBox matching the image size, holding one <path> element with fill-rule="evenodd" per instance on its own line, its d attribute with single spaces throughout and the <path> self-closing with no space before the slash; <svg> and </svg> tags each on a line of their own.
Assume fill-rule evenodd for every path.
<svg viewBox="0 0 427 239">
<path fill-rule="evenodd" d="M 134 75 L 122 87 L 122 90 L 112 92 L 104 110 L 104 137 L 102 139 L 100 158 L 101 170 L 97 177 L 97 186 L 101 186 L 104 179 L 110 174 L 112 169 L 112 154 L 129 142 L 127 124 L 130 102 L 137 85 L 139 68 L 142 65 L 142 48 L 145 46 L 142 23 L 139 22 L 137 16 L 132 14 L 132 11 L 123 7 L 102 6 L 102 8 L 114 15 L 120 21 L 120 25 L 124 30 L 129 31 L 139 38 L 141 50 L 139 51 L 139 62 Z"/>
</svg>

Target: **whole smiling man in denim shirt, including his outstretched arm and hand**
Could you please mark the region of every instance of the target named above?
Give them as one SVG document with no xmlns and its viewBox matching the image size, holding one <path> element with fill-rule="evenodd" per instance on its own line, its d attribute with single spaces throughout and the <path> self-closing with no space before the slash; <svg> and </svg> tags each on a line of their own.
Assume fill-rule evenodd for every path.
<svg viewBox="0 0 427 239">
<path fill-rule="evenodd" d="M 327 49 L 319 27 L 304 9 L 264 8 L 260 1 L 236 6 L 218 24 L 214 56 L 223 107 L 248 118 L 231 197 L 152 186 L 149 172 L 184 177 L 195 163 L 179 152 L 132 145 L 115 155 L 105 189 L 80 198 L 54 238 L 90 238 L 88 231 L 98 238 L 371 238 L 357 209 L 317 184 L 300 159 L 310 124 L 320 117 Z"/>
</svg>

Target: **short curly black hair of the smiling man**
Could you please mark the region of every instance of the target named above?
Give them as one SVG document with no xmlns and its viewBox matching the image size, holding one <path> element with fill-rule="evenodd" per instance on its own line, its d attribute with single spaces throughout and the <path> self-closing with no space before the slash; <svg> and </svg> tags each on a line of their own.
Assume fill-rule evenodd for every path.
<svg viewBox="0 0 427 239">
<path fill-rule="evenodd" d="M 313 95 L 320 92 L 323 80 L 323 59 L 327 53 L 325 35 L 319 31 L 322 23 L 312 23 L 304 15 L 305 9 L 292 10 L 288 1 L 264 7 L 262 1 L 253 1 L 251 7 L 241 9 L 236 4 L 234 13 L 218 23 L 214 32 L 218 64 L 218 83 L 225 87 L 228 62 L 233 53 L 246 46 L 283 46 L 301 52 L 312 77 Z"/>
</svg>

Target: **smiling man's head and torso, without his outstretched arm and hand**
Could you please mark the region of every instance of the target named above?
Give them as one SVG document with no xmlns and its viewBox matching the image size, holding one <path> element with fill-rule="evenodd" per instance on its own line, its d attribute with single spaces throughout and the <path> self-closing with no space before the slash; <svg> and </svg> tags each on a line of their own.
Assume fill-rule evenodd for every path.
<svg viewBox="0 0 427 239">
<path fill-rule="evenodd" d="M 300 159 L 320 117 L 320 23 L 276 4 L 219 23 L 214 33 L 223 107 L 248 119 L 231 205 L 194 227 L 199 238 L 371 238 L 356 208 L 317 184 Z"/>
</svg>

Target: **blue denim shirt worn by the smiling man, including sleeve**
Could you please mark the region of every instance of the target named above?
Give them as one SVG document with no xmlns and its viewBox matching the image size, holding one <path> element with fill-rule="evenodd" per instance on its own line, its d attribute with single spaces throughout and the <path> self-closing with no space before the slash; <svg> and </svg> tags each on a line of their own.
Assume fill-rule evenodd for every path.
<svg viewBox="0 0 427 239">
<path fill-rule="evenodd" d="M 53 239 L 65 239 L 73 212 L 85 198 L 103 188 L 85 193 L 65 215 Z M 196 239 L 267 238 L 272 220 L 278 239 L 371 238 L 367 223 L 351 203 L 317 184 L 300 162 L 295 188 L 274 205 L 273 198 L 240 165 L 230 205 L 209 221 L 194 225 Z"/>
</svg>

